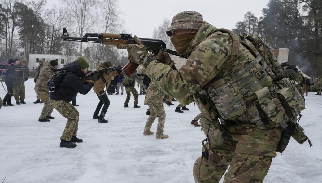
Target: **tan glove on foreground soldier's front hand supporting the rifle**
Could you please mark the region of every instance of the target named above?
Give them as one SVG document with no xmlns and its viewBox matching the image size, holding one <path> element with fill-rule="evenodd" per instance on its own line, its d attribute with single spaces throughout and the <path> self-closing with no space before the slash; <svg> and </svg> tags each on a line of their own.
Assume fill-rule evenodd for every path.
<svg viewBox="0 0 322 183">
<path fill-rule="evenodd" d="M 148 57 L 150 57 L 150 54 L 147 52 L 146 47 L 137 36 L 134 36 L 134 41 L 137 44 L 121 44 L 118 45 L 117 48 L 127 48 L 128 59 L 133 63 L 143 64 L 145 61 L 147 61 Z"/>
</svg>

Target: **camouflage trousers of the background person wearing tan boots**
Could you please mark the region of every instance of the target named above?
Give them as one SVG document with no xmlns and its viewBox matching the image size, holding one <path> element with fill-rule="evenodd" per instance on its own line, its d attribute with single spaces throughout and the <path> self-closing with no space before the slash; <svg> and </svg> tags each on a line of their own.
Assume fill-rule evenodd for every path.
<svg viewBox="0 0 322 183">
<path fill-rule="evenodd" d="M 166 122 L 166 111 L 164 110 L 163 107 L 163 102 L 161 101 L 156 101 L 155 103 L 149 103 L 149 111 L 150 115 L 147 118 L 147 123 L 145 124 L 144 131 L 150 131 L 152 124 L 154 120 L 156 119 L 156 116 L 158 116 L 158 124 L 156 127 L 156 135 L 162 135 L 163 134 L 163 128 L 164 128 L 164 123 Z"/>
</svg>

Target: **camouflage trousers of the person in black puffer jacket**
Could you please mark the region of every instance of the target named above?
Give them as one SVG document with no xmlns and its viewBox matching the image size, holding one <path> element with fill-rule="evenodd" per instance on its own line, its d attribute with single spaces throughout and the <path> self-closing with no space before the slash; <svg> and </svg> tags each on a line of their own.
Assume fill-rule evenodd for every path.
<svg viewBox="0 0 322 183">
<path fill-rule="evenodd" d="M 77 109 L 69 102 L 63 100 L 52 100 L 50 99 L 52 105 L 55 109 L 65 118 L 67 118 L 67 123 L 64 131 L 62 132 L 61 139 L 66 141 L 71 141 L 72 136 L 77 135 L 78 130 L 78 120 L 80 113 Z"/>
</svg>

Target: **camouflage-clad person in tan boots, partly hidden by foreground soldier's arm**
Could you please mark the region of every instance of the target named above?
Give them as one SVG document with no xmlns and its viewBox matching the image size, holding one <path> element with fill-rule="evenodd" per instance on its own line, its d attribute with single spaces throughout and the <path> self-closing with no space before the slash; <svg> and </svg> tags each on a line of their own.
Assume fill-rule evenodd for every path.
<svg viewBox="0 0 322 183">
<path fill-rule="evenodd" d="M 161 92 L 153 83 L 150 83 L 147 88 L 147 93 L 144 100 L 144 105 L 149 106 L 150 116 L 147 118 L 143 134 L 152 135 L 152 124 L 158 116 L 158 124 L 156 128 L 156 138 L 168 138 L 168 135 L 163 134 L 164 123 L 166 122 L 166 112 L 163 107 L 163 98 L 166 94 Z"/>
</svg>

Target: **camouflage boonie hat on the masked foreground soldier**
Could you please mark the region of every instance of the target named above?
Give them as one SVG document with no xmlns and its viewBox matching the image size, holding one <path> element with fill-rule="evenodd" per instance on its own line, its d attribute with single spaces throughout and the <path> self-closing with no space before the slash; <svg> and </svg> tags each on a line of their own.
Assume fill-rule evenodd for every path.
<svg viewBox="0 0 322 183">
<path fill-rule="evenodd" d="M 171 26 L 166 30 L 166 34 L 171 37 L 171 31 L 176 29 L 198 30 L 203 23 L 204 19 L 200 13 L 195 11 L 184 11 L 176 14 L 172 18 Z"/>
</svg>

